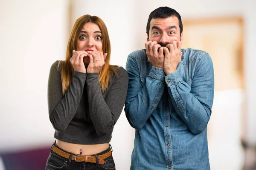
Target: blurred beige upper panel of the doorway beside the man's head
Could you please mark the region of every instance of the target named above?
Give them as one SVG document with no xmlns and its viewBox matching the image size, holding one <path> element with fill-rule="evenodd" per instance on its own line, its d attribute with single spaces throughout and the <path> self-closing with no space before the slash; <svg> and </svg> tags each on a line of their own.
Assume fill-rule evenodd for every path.
<svg viewBox="0 0 256 170">
<path fill-rule="evenodd" d="M 183 48 L 207 51 L 215 67 L 215 91 L 243 88 L 243 20 L 183 21 Z"/>
</svg>

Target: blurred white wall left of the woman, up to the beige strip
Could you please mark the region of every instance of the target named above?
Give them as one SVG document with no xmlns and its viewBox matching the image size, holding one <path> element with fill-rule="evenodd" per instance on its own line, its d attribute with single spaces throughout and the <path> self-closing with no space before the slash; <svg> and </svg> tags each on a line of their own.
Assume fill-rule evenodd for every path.
<svg viewBox="0 0 256 170">
<path fill-rule="evenodd" d="M 68 1 L 0 1 L 0 151 L 54 141 L 49 68 L 64 59 Z"/>
</svg>

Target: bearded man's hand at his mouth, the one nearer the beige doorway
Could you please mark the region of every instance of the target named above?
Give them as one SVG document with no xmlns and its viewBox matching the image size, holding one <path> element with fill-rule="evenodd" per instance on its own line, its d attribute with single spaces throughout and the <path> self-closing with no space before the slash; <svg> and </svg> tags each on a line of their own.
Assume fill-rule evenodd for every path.
<svg viewBox="0 0 256 170">
<path fill-rule="evenodd" d="M 180 49 L 181 42 L 177 43 L 176 41 L 173 41 L 172 44 L 168 44 L 163 48 L 165 52 L 163 71 L 166 75 L 169 75 L 177 70 L 177 65 L 180 63 L 182 56 Z"/>
</svg>

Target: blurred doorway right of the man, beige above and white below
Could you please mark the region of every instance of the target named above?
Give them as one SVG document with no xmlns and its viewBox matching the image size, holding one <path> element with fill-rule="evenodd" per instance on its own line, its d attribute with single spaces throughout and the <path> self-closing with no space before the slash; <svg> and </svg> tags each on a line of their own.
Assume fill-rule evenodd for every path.
<svg viewBox="0 0 256 170">
<path fill-rule="evenodd" d="M 212 170 L 243 165 L 243 20 L 240 17 L 183 20 L 183 48 L 207 51 L 215 74 L 212 116 L 208 124 Z"/>
</svg>

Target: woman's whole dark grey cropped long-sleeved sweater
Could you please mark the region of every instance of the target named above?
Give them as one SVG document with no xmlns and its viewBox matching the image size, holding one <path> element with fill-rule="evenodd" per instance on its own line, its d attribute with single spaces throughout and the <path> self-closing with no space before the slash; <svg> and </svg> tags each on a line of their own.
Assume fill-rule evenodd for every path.
<svg viewBox="0 0 256 170">
<path fill-rule="evenodd" d="M 49 119 L 54 137 L 75 144 L 111 141 L 113 127 L 125 103 L 128 74 L 119 67 L 108 89 L 102 93 L 98 73 L 75 71 L 67 92 L 61 89 L 61 64 L 51 66 L 48 80 Z"/>
</svg>

